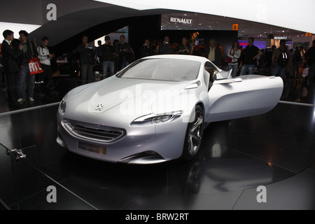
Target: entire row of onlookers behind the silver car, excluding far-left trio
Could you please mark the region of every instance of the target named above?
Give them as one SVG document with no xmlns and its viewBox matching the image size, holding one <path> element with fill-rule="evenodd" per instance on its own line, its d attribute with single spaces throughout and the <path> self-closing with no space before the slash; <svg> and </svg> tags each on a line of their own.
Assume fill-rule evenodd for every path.
<svg viewBox="0 0 315 224">
<path fill-rule="evenodd" d="M 314 41 L 313 46 L 307 52 L 305 52 L 303 46 L 297 46 L 295 50 L 288 50 L 286 40 L 280 41 L 279 48 L 273 45 L 272 48 L 267 49 L 259 49 L 255 46 L 255 40 L 252 37 L 248 38 L 247 41 L 246 48 L 242 48 L 239 41 L 235 40 L 225 52 L 221 43 L 217 43 L 214 38 L 211 38 L 206 45 L 202 45 L 198 41 L 193 43 L 186 37 L 181 39 L 181 43 L 173 44 L 169 36 L 165 36 L 163 41 L 156 39 L 150 41 L 146 38 L 137 55 L 139 55 L 139 58 L 169 54 L 207 57 L 218 68 L 232 70 L 231 76 L 233 78 L 255 73 L 265 76 L 280 76 L 283 80 L 285 76 L 302 78 L 304 68 L 308 66 L 309 75 L 303 80 L 302 97 L 307 96 L 307 84 L 310 81 L 314 83 L 315 77 Z M 98 44 L 99 46 L 94 51 L 96 52 L 96 61 L 102 67 L 102 79 L 113 76 L 114 73 L 125 68 L 136 59 L 135 52 L 125 42 L 124 35 L 120 36 L 120 41 L 115 40 L 113 43 L 111 43 L 110 36 L 106 36 L 104 45 L 102 45 L 102 41 L 99 41 Z M 87 43 L 87 36 L 83 36 L 83 42 L 78 46 L 83 83 L 94 82 L 95 80 L 92 75 L 91 64 L 93 62 L 89 62 L 85 58 L 87 55 L 92 58 L 92 49 L 92 45 Z M 90 64 L 89 69 L 85 68 L 85 64 Z"/>
</svg>

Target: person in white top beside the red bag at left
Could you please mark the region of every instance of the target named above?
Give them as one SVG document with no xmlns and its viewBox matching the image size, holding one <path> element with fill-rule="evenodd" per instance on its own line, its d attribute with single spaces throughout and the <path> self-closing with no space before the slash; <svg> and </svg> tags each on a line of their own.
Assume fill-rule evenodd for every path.
<svg viewBox="0 0 315 224">
<path fill-rule="evenodd" d="M 48 44 L 49 39 L 47 36 L 44 36 L 42 38 L 41 45 L 37 48 L 38 59 L 41 63 L 41 68 L 43 69 L 43 73 L 38 74 L 38 82 L 43 81 L 43 84 L 40 84 L 42 90 L 41 93 L 44 93 L 45 91 L 46 95 L 58 94 L 58 92 L 55 90 L 55 85 L 52 78 L 52 69 L 50 67 L 50 59 L 52 59 L 54 55 L 50 54 Z M 43 87 L 45 87 L 44 90 Z"/>
</svg>

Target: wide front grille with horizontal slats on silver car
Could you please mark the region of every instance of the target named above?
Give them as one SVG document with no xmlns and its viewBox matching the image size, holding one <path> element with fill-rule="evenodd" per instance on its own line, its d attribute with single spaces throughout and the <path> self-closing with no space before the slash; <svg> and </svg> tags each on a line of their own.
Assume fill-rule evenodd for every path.
<svg viewBox="0 0 315 224">
<path fill-rule="evenodd" d="M 66 119 L 62 120 L 62 127 L 74 137 L 104 143 L 116 141 L 125 135 L 125 130 L 123 129 Z"/>
</svg>

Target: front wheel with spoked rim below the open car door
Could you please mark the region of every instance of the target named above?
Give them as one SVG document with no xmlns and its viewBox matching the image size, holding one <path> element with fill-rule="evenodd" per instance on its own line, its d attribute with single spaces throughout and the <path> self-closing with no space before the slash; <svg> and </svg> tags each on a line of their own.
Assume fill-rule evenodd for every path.
<svg viewBox="0 0 315 224">
<path fill-rule="evenodd" d="M 195 114 L 192 114 L 193 122 L 188 123 L 185 142 L 183 146 L 182 160 L 190 161 L 197 155 L 202 144 L 204 133 L 204 113 L 202 107 L 195 107 Z"/>
</svg>

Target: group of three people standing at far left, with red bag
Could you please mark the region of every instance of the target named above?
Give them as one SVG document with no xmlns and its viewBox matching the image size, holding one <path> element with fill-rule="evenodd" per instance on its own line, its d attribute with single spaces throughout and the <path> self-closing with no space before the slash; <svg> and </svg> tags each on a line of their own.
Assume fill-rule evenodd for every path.
<svg viewBox="0 0 315 224">
<path fill-rule="evenodd" d="M 3 31 L 4 41 L 1 43 L 1 64 L 6 79 L 6 92 L 10 106 L 22 106 L 26 100 L 34 102 L 34 88 L 36 83 L 42 94 L 58 94 L 52 81 L 50 59 L 54 55 L 48 50 L 48 37 L 44 36 L 41 45 L 28 40 L 29 34 L 25 30 L 19 31 L 19 38 L 14 38 L 11 30 Z M 29 63 L 38 58 L 42 72 L 32 74 Z M 26 84 L 26 82 L 28 83 Z"/>
</svg>

